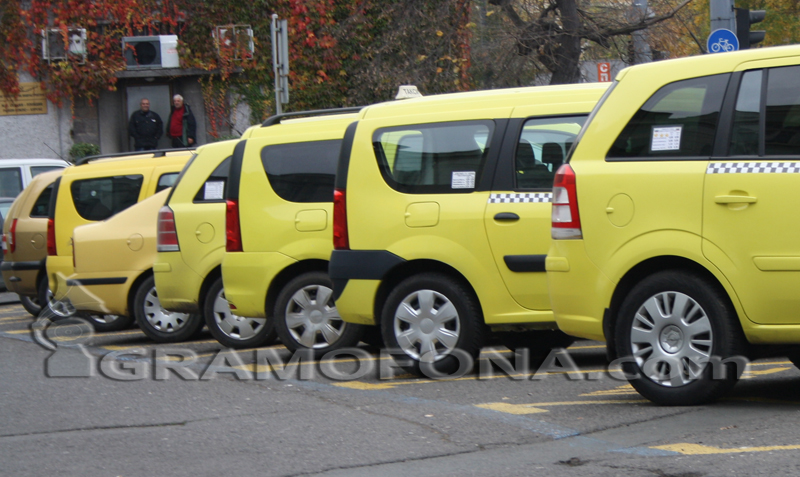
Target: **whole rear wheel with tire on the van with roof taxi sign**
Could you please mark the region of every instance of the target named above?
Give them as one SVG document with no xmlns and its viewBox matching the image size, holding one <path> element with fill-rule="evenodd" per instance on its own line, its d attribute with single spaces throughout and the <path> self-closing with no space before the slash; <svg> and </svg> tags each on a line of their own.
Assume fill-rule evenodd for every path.
<svg viewBox="0 0 800 477">
<path fill-rule="evenodd" d="M 461 371 L 469 364 L 462 362 L 466 357 L 474 364 L 486 336 L 477 299 L 438 273 L 412 276 L 396 286 L 383 306 L 381 328 L 397 364 L 420 376 Z"/>
</svg>

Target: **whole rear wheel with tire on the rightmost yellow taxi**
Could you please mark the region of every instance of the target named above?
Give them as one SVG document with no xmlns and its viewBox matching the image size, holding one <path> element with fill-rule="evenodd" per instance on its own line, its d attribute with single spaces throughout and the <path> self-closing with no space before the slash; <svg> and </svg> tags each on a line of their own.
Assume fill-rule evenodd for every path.
<svg viewBox="0 0 800 477">
<path fill-rule="evenodd" d="M 735 310 L 723 291 L 688 271 L 639 282 L 622 303 L 615 334 L 631 385 L 657 404 L 712 402 L 744 370 L 723 364 L 747 349 Z"/>
</svg>

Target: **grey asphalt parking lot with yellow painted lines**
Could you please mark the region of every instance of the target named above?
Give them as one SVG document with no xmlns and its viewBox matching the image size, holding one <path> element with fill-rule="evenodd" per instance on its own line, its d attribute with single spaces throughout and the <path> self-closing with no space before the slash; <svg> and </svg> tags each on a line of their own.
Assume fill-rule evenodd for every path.
<svg viewBox="0 0 800 477">
<path fill-rule="evenodd" d="M 751 363 L 714 405 L 669 408 L 610 376 L 596 342 L 551 372 L 490 374 L 489 356 L 511 358 L 498 348 L 483 373 L 436 380 L 367 347 L 360 360 L 291 363 L 280 345 L 234 352 L 207 334 L 156 345 L 137 329 L 32 323 L 0 306 L 2 475 L 800 473 L 800 372 L 784 359 Z"/>
</svg>

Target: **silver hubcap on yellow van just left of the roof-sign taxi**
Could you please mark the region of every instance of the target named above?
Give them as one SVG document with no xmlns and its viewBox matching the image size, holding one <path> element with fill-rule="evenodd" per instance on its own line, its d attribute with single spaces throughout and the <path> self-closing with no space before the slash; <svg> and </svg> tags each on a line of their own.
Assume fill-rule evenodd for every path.
<svg viewBox="0 0 800 477">
<path fill-rule="evenodd" d="M 289 334 L 306 348 L 326 348 L 342 337 L 347 324 L 333 303 L 333 290 L 309 285 L 297 290 L 286 305 Z"/>
</svg>

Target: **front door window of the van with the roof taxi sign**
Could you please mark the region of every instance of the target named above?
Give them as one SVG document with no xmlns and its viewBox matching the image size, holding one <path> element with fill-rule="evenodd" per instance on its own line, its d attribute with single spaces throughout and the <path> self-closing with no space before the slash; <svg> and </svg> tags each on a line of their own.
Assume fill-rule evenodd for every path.
<svg viewBox="0 0 800 477">
<path fill-rule="evenodd" d="M 552 189 L 587 115 L 525 121 L 514 156 L 517 189 Z"/>
</svg>

